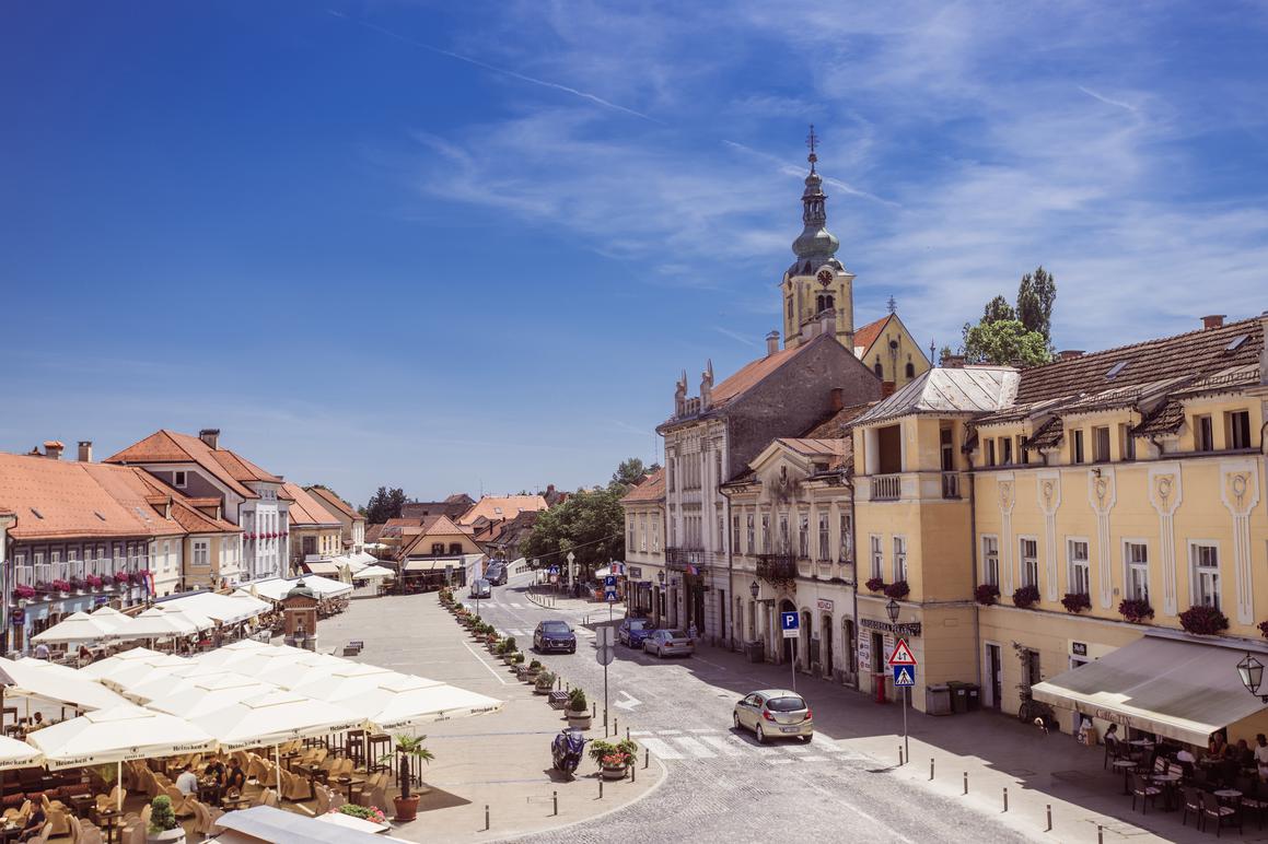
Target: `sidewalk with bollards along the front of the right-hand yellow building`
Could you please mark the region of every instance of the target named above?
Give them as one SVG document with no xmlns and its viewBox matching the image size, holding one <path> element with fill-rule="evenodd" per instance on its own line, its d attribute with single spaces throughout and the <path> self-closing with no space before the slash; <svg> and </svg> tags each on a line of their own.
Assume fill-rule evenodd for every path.
<svg viewBox="0 0 1268 844">
<path fill-rule="evenodd" d="M 791 682 L 787 665 L 748 663 L 743 655 L 720 648 L 697 645 L 696 659 L 734 672 L 737 694 L 762 687 L 786 688 Z M 716 679 L 714 681 L 716 682 Z M 927 788 L 946 797 L 964 800 L 1030 838 L 1060 841 L 1198 841 L 1213 838 L 1207 824 L 1198 833 L 1189 816 L 1181 825 L 1179 811 L 1149 809 L 1148 815 L 1131 810 L 1131 797 L 1123 795 L 1121 776 L 1102 768 L 1104 749 L 1085 748 L 1073 736 L 1044 735 L 1032 725 L 995 712 L 969 712 L 928 716 L 908 711 L 910 762 L 898 767 L 903 745 L 903 708 L 898 702 L 875 703 L 851 688 L 808 674 L 798 674 L 796 689 L 814 708 L 815 729 L 839 740 L 880 764 L 877 773 L 900 778 L 914 788 Z M 931 781 L 931 760 L 933 778 Z M 969 793 L 964 795 L 965 774 Z M 1008 790 L 1004 812 L 1003 790 Z M 1047 807 L 1051 807 L 1051 831 Z M 913 807 L 918 811 L 918 807 Z M 1235 828 L 1221 836 L 1238 839 Z M 1268 840 L 1258 820 L 1246 819 L 1240 840 Z"/>
</svg>

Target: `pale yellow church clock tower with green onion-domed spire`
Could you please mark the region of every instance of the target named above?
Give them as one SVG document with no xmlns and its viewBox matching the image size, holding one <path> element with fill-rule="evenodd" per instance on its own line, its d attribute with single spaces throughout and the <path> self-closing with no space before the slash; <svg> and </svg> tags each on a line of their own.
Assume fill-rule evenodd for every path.
<svg viewBox="0 0 1268 844">
<path fill-rule="evenodd" d="M 801 222 L 805 228 L 792 242 L 796 260 L 784 274 L 780 294 L 784 299 L 784 345 L 795 347 L 813 336 L 825 316 L 832 317 L 837 340 L 851 354 L 855 351 L 853 272 L 837 260 L 841 242 L 827 229 L 827 194 L 823 179 L 815 172 L 819 157 L 814 127 L 806 137 L 810 155 L 810 174 L 805 177 L 801 194 Z"/>
</svg>

